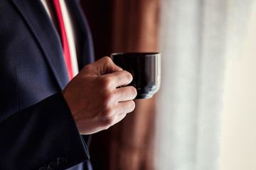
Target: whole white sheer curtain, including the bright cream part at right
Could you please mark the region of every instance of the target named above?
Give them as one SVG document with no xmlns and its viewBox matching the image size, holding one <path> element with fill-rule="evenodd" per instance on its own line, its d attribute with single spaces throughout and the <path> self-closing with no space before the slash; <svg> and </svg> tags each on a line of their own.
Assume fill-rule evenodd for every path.
<svg viewBox="0 0 256 170">
<path fill-rule="evenodd" d="M 255 10 L 252 0 L 161 0 L 155 169 L 256 169 Z"/>
</svg>

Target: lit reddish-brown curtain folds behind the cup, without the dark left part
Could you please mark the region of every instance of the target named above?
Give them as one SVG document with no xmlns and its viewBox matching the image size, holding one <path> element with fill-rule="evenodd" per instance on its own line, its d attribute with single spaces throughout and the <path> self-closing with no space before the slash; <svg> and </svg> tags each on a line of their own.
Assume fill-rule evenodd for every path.
<svg viewBox="0 0 256 170">
<path fill-rule="evenodd" d="M 158 51 L 158 0 L 114 0 L 113 52 Z M 110 169 L 153 169 L 155 97 L 111 128 Z"/>
</svg>

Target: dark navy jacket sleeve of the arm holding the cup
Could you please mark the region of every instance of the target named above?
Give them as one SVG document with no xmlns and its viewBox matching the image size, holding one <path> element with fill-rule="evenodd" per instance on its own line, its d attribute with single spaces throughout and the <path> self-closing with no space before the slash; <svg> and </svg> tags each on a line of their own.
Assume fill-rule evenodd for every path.
<svg viewBox="0 0 256 170">
<path fill-rule="evenodd" d="M 67 169 L 89 159 L 61 93 L 0 123 L 0 169 Z"/>
</svg>

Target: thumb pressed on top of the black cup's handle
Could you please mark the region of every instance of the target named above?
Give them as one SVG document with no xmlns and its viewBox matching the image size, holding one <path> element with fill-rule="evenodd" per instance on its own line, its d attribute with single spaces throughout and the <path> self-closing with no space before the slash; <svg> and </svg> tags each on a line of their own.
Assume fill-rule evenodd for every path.
<svg viewBox="0 0 256 170">
<path fill-rule="evenodd" d="M 95 67 L 95 70 L 97 70 L 97 75 L 123 70 L 121 67 L 114 64 L 110 57 L 102 57 L 100 60 L 92 63 L 92 65 Z"/>
</svg>

